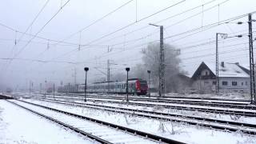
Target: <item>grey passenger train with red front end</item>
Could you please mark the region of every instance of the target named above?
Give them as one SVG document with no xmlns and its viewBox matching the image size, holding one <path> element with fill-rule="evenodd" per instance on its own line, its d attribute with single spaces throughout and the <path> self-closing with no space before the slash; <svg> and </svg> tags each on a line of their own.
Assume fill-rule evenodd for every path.
<svg viewBox="0 0 256 144">
<path fill-rule="evenodd" d="M 58 93 L 84 93 L 85 85 L 58 86 Z M 146 80 L 128 79 L 128 94 L 145 95 L 148 91 Z M 86 86 L 88 93 L 126 94 L 126 81 L 95 82 Z"/>
</svg>

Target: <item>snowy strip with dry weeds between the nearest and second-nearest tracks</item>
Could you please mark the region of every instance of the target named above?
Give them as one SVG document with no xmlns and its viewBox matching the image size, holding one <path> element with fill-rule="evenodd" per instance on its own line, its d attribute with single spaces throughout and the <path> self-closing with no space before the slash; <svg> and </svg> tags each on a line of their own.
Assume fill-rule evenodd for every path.
<svg viewBox="0 0 256 144">
<path fill-rule="evenodd" d="M 32 102 L 34 100 L 30 100 Z M 209 130 L 201 126 L 190 126 L 186 123 L 162 122 L 159 120 L 140 118 L 131 114 L 118 114 L 104 110 L 94 110 L 75 106 L 65 106 L 50 102 L 38 102 L 44 106 L 50 106 L 59 110 L 85 115 L 90 118 L 111 122 L 121 126 L 127 126 L 136 130 L 142 130 L 151 134 L 171 138 L 187 143 L 256 143 L 256 136 L 242 134 L 240 132 L 224 132 Z"/>
</svg>

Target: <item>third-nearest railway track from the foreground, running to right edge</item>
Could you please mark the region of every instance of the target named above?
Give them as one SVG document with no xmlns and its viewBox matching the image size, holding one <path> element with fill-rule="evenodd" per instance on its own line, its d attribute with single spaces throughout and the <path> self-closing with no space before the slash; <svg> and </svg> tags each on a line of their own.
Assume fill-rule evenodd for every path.
<svg viewBox="0 0 256 144">
<path fill-rule="evenodd" d="M 39 97 L 38 97 L 39 98 Z M 44 97 L 41 97 L 44 98 Z M 48 96 L 48 98 L 54 98 L 52 96 Z M 56 97 L 57 98 L 57 97 Z M 61 99 L 67 99 L 66 97 L 58 97 Z M 70 97 L 70 99 L 82 101 L 83 98 L 79 97 Z M 255 117 L 256 113 L 254 110 L 244 110 L 244 109 L 230 109 L 230 108 L 222 108 L 222 107 L 208 107 L 208 106 L 189 106 L 189 105 L 176 105 L 176 104 L 170 104 L 170 103 L 158 103 L 158 102 L 136 102 L 131 101 L 130 102 L 122 102 L 121 99 L 96 99 L 96 98 L 87 98 L 87 101 L 91 102 L 108 102 L 108 103 L 115 103 L 115 104 L 129 104 L 131 106 L 162 106 L 166 109 L 176 109 L 176 110 L 197 110 L 200 112 L 205 113 L 214 113 L 214 114 L 230 114 L 230 115 L 238 115 L 238 116 L 246 116 L 246 117 Z"/>
</svg>

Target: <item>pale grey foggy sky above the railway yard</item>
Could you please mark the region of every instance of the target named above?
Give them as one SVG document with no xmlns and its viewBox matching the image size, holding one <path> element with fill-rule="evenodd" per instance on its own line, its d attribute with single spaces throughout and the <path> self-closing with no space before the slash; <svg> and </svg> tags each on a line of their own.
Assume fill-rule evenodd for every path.
<svg viewBox="0 0 256 144">
<path fill-rule="evenodd" d="M 1 1 L 0 87 L 82 83 L 85 66 L 90 68 L 89 82 L 104 80 L 107 59 L 114 80 L 114 74 L 142 62 L 141 51 L 150 42 L 158 42 L 159 27 L 149 23 L 164 26 L 164 42 L 181 50 L 181 67 L 188 74 L 202 61 L 214 62 L 217 32 L 243 34 L 220 38 L 219 61 L 248 66 L 247 16 L 222 21 L 254 10 L 254 0 Z M 206 27 L 216 22 L 218 26 Z"/>
</svg>

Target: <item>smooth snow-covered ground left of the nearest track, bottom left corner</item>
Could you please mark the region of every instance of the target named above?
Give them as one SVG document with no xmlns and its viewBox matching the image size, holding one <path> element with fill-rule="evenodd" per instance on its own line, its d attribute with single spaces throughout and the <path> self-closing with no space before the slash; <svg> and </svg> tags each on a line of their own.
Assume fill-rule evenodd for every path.
<svg viewBox="0 0 256 144">
<path fill-rule="evenodd" d="M 84 144 L 95 142 L 9 102 L 0 100 L 0 143 Z"/>
</svg>

